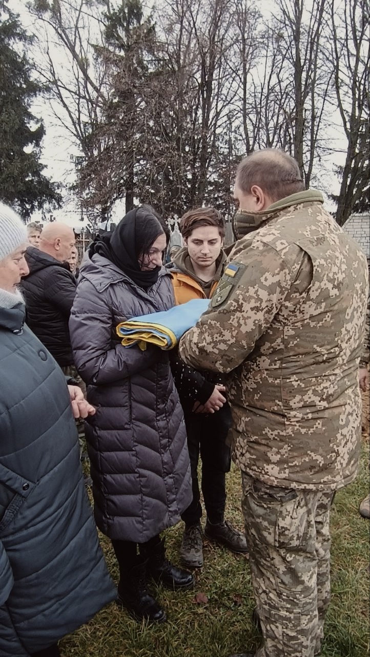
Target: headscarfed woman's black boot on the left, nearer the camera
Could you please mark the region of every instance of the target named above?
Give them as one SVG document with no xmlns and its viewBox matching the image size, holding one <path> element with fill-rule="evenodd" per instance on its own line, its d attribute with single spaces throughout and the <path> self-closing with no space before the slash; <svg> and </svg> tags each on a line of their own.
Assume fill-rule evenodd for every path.
<svg viewBox="0 0 370 657">
<path fill-rule="evenodd" d="M 165 612 L 146 588 L 145 561 L 138 562 L 129 568 L 124 578 L 121 576 L 118 584 L 117 604 L 126 607 L 138 621 L 144 619 L 163 623 L 167 620 Z"/>
</svg>

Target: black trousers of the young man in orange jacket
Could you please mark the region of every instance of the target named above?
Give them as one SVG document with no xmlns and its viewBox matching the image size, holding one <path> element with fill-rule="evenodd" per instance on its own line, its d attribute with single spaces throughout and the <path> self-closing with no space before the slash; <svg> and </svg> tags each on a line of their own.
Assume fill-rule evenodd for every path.
<svg viewBox="0 0 370 657">
<path fill-rule="evenodd" d="M 230 470 L 230 448 L 226 436 L 232 425 L 228 403 L 216 413 L 185 414 L 188 450 L 192 470 L 193 501 L 181 518 L 186 525 L 201 519 L 197 466 L 201 457 L 201 491 L 207 518 L 212 524 L 223 522 L 226 503 L 225 473 Z"/>
</svg>

